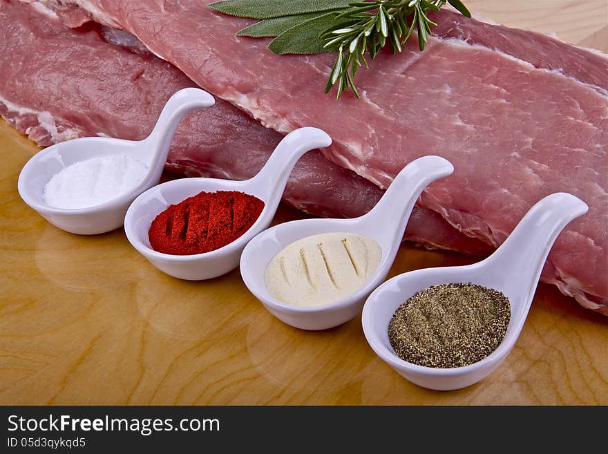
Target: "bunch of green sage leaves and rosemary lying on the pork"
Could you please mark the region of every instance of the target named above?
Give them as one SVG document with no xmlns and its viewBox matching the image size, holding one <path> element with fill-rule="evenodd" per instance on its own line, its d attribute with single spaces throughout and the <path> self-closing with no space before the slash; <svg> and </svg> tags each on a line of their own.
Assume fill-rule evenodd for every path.
<svg viewBox="0 0 608 454">
<path fill-rule="evenodd" d="M 209 8 L 262 19 L 237 35 L 274 37 L 268 48 L 276 54 L 337 53 L 325 93 L 336 85 L 339 99 L 348 90 L 360 97 L 354 78 L 359 66 L 370 67 L 365 54 L 374 59 L 387 42 L 392 53 L 401 52 L 414 31 L 424 50 L 437 26 L 427 12 L 446 3 L 471 17 L 460 0 L 226 0 Z"/>
</svg>

